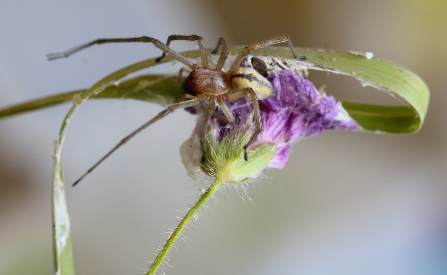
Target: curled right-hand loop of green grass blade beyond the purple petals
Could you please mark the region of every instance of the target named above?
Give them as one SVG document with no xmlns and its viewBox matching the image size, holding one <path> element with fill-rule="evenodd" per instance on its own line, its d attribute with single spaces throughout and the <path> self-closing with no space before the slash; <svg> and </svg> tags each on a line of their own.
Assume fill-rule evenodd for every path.
<svg viewBox="0 0 447 275">
<path fill-rule="evenodd" d="M 359 121 L 364 130 L 395 134 L 417 132 L 422 127 L 428 110 L 430 91 L 425 82 L 413 71 L 391 62 L 368 58 L 366 54 L 304 48 L 296 48 L 296 50 L 298 55 L 307 57 L 307 61 L 300 62 L 305 64 L 304 67 L 307 69 L 318 69 L 353 76 L 360 80 L 363 85 L 371 85 L 389 93 L 391 96 L 398 97 L 409 105 L 408 110 L 406 110 L 402 106 L 382 108 L 381 105 L 366 104 L 365 107 L 368 106 L 368 110 L 363 113 L 362 119 Z M 260 49 L 256 51 L 256 54 L 286 58 L 289 63 L 297 62 L 291 57 L 288 48 Z M 372 108 L 373 106 L 377 108 Z M 399 115 L 393 118 L 394 108 Z M 402 120 L 399 116 L 402 115 L 403 110 L 406 110 L 406 119 Z M 359 118 L 359 111 L 361 110 L 357 106 L 357 113 L 352 114 L 353 117 L 357 116 Z M 384 120 L 383 114 L 380 114 L 382 111 L 386 112 L 387 120 Z M 412 111 L 411 115 L 407 111 Z M 350 115 L 351 112 L 348 110 Z M 390 125 L 391 120 L 394 123 Z M 409 123 L 410 121 L 411 123 Z M 398 129 L 392 129 L 392 126 Z"/>
</svg>

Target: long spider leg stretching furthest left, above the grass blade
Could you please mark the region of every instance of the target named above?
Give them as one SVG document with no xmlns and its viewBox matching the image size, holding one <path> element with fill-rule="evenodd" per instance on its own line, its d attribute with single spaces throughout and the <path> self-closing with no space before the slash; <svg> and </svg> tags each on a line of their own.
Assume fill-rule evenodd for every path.
<svg viewBox="0 0 447 275">
<path fill-rule="evenodd" d="M 192 63 L 189 59 L 182 56 L 181 54 L 175 52 L 168 46 L 161 43 L 159 40 L 148 37 L 148 36 L 141 36 L 141 37 L 133 37 L 133 38 L 104 38 L 104 39 L 96 39 L 91 42 L 82 44 L 80 46 L 74 47 L 70 50 L 67 50 L 62 53 L 54 53 L 54 54 L 48 54 L 46 55 L 48 60 L 55 60 L 59 58 L 65 58 L 73 55 L 74 53 L 77 53 L 79 51 L 82 51 L 90 46 L 96 45 L 96 44 L 106 44 L 106 43 L 126 43 L 126 42 L 142 42 L 142 43 L 152 43 L 155 47 L 162 50 L 164 53 L 167 53 L 168 55 L 172 56 L 172 58 L 180 61 L 184 65 L 186 65 L 190 69 L 198 69 L 199 66 Z M 203 61 L 202 61 L 203 62 Z"/>
</svg>

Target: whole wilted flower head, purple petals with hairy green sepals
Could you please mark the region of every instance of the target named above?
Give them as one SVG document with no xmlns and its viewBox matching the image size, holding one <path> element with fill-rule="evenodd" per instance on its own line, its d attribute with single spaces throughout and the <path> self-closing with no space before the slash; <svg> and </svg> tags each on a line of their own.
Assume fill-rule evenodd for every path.
<svg viewBox="0 0 447 275">
<path fill-rule="evenodd" d="M 216 165 L 229 169 L 231 176 L 228 180 L 240 181 L 259 173 L 264 167 L 284 168 L 289 161 L 292 144 L 301 138 L 317 136 L 323 130 L 360 128 L 340 103 L 332 96 L 321 94 L 312 82 L 298 73 L 292 70 L 272 73 L 269 81 L 276 94 L 259 101 L 263 131 L 249 147 L 248 162 L 243 160 L 242 147 L 254 129 L 252 103 L 243 98 L 227 102 L 236 121 L 228 125 L 213 118 L 210 123 L 208 137 L 213 144 L 209 143 L 211 153 L 210 156 L 207 155 L 207 159 L 210 159 L 213 171 L 216 170 Z M 200 129 L 203 120 L 199 121 L 197 129 Z M 199 132 L 196 130 L 188 143 L 191 148 L 190 155 L 195 147 L 194 142 L 198 147 Z M 186 162 L 198 163 L 199 154 L 192 154 L 192 158 L 187 157 L 184 149 L 183 162 L 191 168 Z M 196 151 L 199 152 L 198 148 Z M 208 171 L 209 168 L 205 165 L 202 170 Z M 240 169 L 243 173 L 236 175 Z"/>
</svg>

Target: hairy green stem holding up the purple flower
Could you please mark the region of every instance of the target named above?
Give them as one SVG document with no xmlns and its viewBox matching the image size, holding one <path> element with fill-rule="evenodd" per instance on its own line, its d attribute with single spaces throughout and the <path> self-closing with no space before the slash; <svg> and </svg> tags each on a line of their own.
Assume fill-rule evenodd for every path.
<svg viewBox="0 0 447 275">
<path fill-rule="evenodd" d="M 163 263 L 167 254 L 174 245 L 175 241 L 178 239 L 178 237 L 180 237 L 180 235 L 182 234 L 183 230 L 186 228 L 188 223 L 197 214 L 200 208 L 202 208 L 202 206 L 205 205 L 208 199 L 210 199 L 214 195 L 214 193 L 216 193 L 219 187 L 221 187 L 223 181 L 224 177 L 222 175 L 216 175 L 214 182 L 210 185 L 207 191 L 205 191 L 205 193 L 203 193 L 203 195 L 200 196 L 197 203 L 194 206 L 192 206 L 191 209 L 189 209 L 188 213 L 183 217 L 183 219 L 175 228 L 174 232 L 172 232 L 168 240 L 164 243 L 163 248 L 158 253 L 157 257 L 155 257 L 146 275 L 154 275 L 157 272 L 158 268 Z"/>
</svg>

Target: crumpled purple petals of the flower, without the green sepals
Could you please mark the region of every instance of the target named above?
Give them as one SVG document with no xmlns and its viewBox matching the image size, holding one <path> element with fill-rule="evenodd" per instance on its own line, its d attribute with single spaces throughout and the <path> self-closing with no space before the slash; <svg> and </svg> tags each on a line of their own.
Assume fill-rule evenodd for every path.
<svg viewBox="0 0 447 275">
<path fill-rule="evenodd" d="M 269 167 L 284 168 L 289 160 L 292 143 L 301 138 L 317 136 L 323 130 L 360 128 L 333 96 L 323 97 L 312 82 L 298 73 L 283 70 L 273 73 L 269 81 L 276 94 L 259 101 L 264 130 L 250 147 L 254 149 L 260 144 L 276 144 L 277 153 L 268 164 Z M 228 127 L 224 121 L 215 119 L 216 125 L 224 129 L 220 131 L 220 139 L 237 125 L 245 123 L 253 109 L 252 103 L 246 99 L 227 104 L 236 122 Z"/>
</svg>

